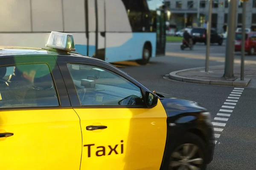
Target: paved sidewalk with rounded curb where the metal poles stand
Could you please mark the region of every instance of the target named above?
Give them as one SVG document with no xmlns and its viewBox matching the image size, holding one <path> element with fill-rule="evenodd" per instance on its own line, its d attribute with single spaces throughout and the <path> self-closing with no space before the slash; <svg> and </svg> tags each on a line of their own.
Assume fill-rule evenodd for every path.
<svg viewBox="0 0 256 170">
<path fill-rule="evenodd" d="M 209 67 L 209 72 L 205 72 L 204 67 L 174 71 L 169 74 L 169 78 L 199 84 L 256 88 L 256 64 L 244 65 L 244 81 L 240 80 L 240 69 L 240 64 L 234 65 L 235 78 L 232 79 L 222 77 L 224 74 L 224 65 Z"/>
</svg>

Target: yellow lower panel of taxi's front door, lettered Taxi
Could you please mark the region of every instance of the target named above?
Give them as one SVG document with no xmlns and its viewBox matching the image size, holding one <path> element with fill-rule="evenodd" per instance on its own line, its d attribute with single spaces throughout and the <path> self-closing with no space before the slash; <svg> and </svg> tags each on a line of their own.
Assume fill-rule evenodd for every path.
<svg viewBox="0 0 256 170">
<path fill-rule="evenodd" d="M 81 119 L 81 170 L 159 170 L 166 144 L 166 111 L 154 108 L 76 108 Z M 107 128 L 86 130 L 90 125 Z"/>
</svg>

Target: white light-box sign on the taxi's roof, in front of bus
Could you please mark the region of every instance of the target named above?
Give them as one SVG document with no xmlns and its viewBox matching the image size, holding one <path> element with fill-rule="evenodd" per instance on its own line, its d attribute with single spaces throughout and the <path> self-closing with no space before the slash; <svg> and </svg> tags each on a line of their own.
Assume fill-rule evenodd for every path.
<svg viewBox="0 0 256 170">
<path fill-rule="evenodd" d="M 62 32 L 52 31 L 46 46 L 64 51 L 76 51 L 73 35 Z"/>
</svg>

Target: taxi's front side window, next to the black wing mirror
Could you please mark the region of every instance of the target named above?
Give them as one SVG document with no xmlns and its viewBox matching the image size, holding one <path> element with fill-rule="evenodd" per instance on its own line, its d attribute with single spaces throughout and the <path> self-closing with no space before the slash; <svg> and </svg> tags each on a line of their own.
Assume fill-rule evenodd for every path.
<svg viewBox="0 0 256 170">
<path fill-rule="evenodd" d="M 70 63 L 67 68 L 81 105 L 144 105 L 140 88 L 112 71 Z"/>
</svg>

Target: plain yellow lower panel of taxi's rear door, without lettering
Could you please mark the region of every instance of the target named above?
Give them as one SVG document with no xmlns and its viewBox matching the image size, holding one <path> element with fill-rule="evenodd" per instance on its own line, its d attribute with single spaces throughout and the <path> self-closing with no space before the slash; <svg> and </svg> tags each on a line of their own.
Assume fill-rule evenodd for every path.
<svg viewBox="0 0 256 170">
<path fill-rule="evenodd" d="M 73 109 L 0 111 L 0 170 L 79 170 L 81 127 Z"/>
</svg>

